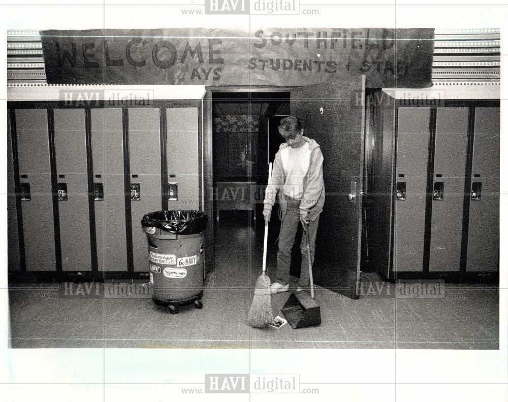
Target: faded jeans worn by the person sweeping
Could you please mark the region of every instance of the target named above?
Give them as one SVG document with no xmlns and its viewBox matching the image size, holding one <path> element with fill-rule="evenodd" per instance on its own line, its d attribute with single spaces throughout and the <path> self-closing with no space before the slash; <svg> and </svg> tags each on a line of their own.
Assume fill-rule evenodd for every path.
<svg viewBox="0 0 508 402">
<path fill-rule="evenodd" d="M 299 200 L 286 197 L 288 200 L 288 209 L 285 216 L 280 223 L 279 232 L 279 250 L 277 252 L 277 282 L 285 285 L 289 283 L 290 266 L 291 266 L 291 249 L 295 243 L 296 231 L 300 225 L 300 202 Z M 310 221 L 308 225 L 309 243 L 310 243 L 310 257 L 314 262 L 314 249 L 316 242 L 317 224 L 319 223 L 319 216 L 315 221 Z M 300 251 L 302 253 L 302 269 L 300 272 L 300 280 L 298 286 L 309 286 L 309 263 L 307 255 L 307 242 L 305 240 L 305 233 L 302 235 L 300 243 Z"/>
</svg>

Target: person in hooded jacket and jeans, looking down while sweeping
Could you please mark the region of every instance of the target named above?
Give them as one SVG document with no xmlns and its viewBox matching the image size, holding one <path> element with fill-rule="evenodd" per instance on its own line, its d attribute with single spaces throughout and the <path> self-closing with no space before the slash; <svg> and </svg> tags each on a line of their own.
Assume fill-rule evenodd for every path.
<svg viewBox="0 0 508 402">
<path fill-rule="evenodd" d="M 325 185 L 323 182 L 323 154 L 314 140 L 303 136 L 300 120 L 288 116 L 280 121 L 278 127 L 284 138 L 275 155 L 273 171 L 266 187 L 263 216 L 270 220 L 275 196 L 281 211 L 279 249 L 277 252 L 277 277 L 270 286 L 270 292 L 289 290 L 291 249 L 295 242 L 298 224 L 307 226 L 310 253 L 307 255 L 305 238 L 302 237 L 302 269 L 297 290 L 309 287 L 308 259 L 314 260 L 314 249 L 319 216 L 325 203 Z"/>
</svg>

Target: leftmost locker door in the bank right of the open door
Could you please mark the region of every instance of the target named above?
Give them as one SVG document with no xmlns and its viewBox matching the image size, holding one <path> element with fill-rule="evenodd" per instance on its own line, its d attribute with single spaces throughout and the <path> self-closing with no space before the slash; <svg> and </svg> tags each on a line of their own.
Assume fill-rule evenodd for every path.
<svg viewBox="0 0 508 402">
<path fill-rule="evenodd" d="M 399 108 L 393 271 L 422 271 L 429 108 Z"/>
</svg>

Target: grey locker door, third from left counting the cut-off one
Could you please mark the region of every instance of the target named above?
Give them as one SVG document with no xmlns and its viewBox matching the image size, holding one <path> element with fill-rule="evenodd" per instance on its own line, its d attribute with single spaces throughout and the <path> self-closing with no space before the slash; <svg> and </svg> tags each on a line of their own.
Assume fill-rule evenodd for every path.
<svg viewBox="0 0 508 402">
<path fill-rule="evenodd" d="M 91 271 L 84 109 L 55 109 L 62 271 Z"/>
</svg>

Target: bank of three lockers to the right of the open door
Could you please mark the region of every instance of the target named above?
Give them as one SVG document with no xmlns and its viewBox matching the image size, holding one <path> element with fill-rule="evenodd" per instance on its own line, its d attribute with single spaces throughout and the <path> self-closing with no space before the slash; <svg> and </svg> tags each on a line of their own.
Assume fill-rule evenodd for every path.
<svg viewBox="0 0 508 402">
<path fill-rule="evenodd" d="M 392 121 L 391 269 L 380 271 L 391 278 L 496 273 L 499 107 L 399 107 Z M 392 137 L 388 129 L 385 142 Z"/>
</svg>

